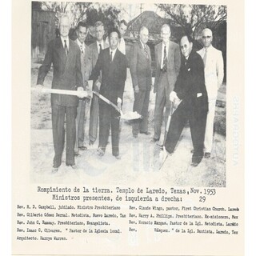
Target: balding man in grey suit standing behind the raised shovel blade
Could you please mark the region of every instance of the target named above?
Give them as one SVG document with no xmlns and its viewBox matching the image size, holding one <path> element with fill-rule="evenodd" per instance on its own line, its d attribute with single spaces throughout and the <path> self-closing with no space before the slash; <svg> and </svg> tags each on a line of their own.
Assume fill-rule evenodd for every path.
<svg viewBox="0 0 256 256">
<path fill-rule="evenodd" d="M 138 132 L 150 134 L 148 131 L 148 109 L 152 75 L 150 47 L 146 44 L 149 39 L 149 30 L 146 26 L 142 26 L 139 34 L 140 39 L 134 43 L 130 54 L 130 74 L 134 86 L 134 111 L 142 115 L 142 119 L 133 122 L 134 138 L 138 137 Z"/>
</svg>

